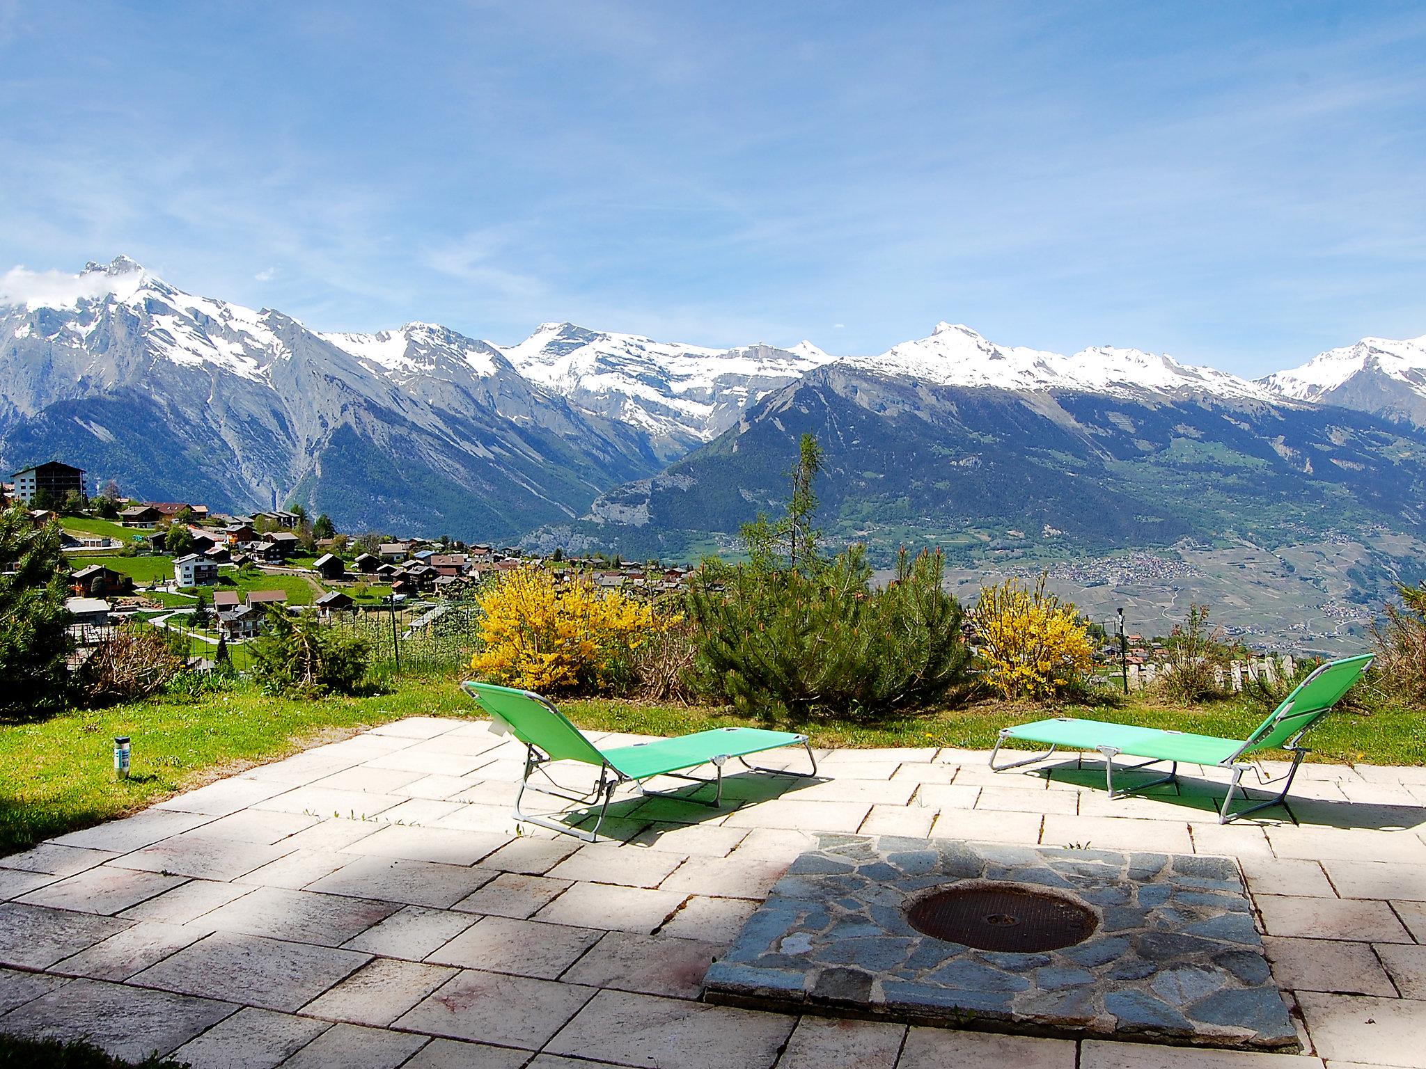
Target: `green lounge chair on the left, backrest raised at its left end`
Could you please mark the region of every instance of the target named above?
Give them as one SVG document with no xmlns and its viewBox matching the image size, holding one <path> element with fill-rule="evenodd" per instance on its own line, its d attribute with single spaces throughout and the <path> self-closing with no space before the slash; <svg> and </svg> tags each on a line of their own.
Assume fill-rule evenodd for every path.
<svg viewBox="0 0 1426 1069">
<path fill-rule="evenodd" d="M 560 831 L 568 835 L 578 835 L 582 840 L 595 842 L 599 828 L 605 822 L 605 812 L 615 788 L 626 783 L 639 784 L 639 791 L 649 797 L 676 798 L 679 801 L 697 802 L 717 808 L 723 801 L 723 765 L 730 757 L 736 757 L 746 768 L 757 773 L 773 773 L 777 775 L 811 777 L 817 774 L 817 758 L 811 753 L 807 735 L 791 731 L 764 731 L 754 727 L 723 727 L 712 731 L 696 731 L 692 735 L 677 738 L 659 738 L 653 743 L 635 743 L 610 750 L 599 750 L 585 738 L 583 733 L 570 724 L 565 716 L 539 694 L 513 687 L 498 687 L 493 683 L 462 683 L 461 688 L 479 703 L 489 713 L 496 730 L 505 730 L 525 743 L 525 775 L 520 777 L 520 790 L 515 795 L 515 820 L 526 824 L 538 824 L 542 828 Z M 779 768 L 760 768 L 750 765 L 743 758 L 749 754 L 759 754 L 764 750 L 776 750 L 784 745 L 801 745 L 807 750 L 811 761 L 810 773 L 786 773 Z M 566 801 L 582 802 L 585 805 L 599 804 L 599 820 L 595 821 L 593 831 L 580 831 L 568 824 L 562 824 L 549 817 L 532 815 L 520 811 L 520 801 L 525 788 L 529 787 L 530 775 L 538 770 L 555 787 L 553 780 L 545 765 L 550 761 L 582 761 L 599 768 L 599 778 L 589 794 L 565 794 L 559 790 L 545 787 L 533 788 L 540 794 L 552 794 Z M 699 765 L 712 764 L 717 770 L 713 780 L 697 775 L 687 775 L 687 771 Z M 656 775 L 670 775 L 692 783 L 713 784 L 713 801 L 690 798 L 682 794 L 667 794 L 665 791 L 649 791 L 643 787 L 645 780 Z M 602 804 L 600 804 L 602 800 Z"/>
</svg>

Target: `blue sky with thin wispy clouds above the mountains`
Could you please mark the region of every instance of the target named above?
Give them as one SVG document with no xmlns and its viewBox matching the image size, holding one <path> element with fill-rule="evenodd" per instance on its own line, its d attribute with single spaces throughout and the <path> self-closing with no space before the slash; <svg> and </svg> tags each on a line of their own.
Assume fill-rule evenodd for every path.
<svg viewBox="0 0 1426 1069">
<path fill-rule="evenodd" d="M 1426 334 L 1426 6 L 0 0 L 0 269 L 1259 375 Z"/>
</svg>

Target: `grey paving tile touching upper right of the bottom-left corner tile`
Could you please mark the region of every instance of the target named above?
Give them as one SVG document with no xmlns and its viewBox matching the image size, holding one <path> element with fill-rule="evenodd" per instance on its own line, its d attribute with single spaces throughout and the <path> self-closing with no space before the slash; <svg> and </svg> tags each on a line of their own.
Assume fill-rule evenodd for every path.
<svg viewBox="0 0 1426 1069">
<path fill-rule="evenodd" d="M 227 995 L 262 1009 L 295 1011 L 368 958 L 355 951 L 214 932 L 130 982 L 184 995 Z"/>
</svg>

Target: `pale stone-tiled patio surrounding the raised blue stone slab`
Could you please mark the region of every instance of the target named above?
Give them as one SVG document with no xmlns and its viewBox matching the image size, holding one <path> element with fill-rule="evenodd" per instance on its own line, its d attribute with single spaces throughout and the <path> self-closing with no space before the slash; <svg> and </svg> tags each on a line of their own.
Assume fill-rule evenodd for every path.
<svg viewBox="0 0 1426 1069">
<path fill-rule="evenodd" d="M 198 1069 L 1426 1066 L 1426 770 L 1308 765 L 1291 812 L 1221 827 L 1192 767 L 1111 802 L 1088 760 L 819 757 L 817 781 L 730 777 L 717 811 L 632 795 L 586 845 L 516 834 L 520 751 L 483 723 L 308 750 L 0 858 L 0 1031 Z M 1231 857 L 1306 1053 L 700 1002 L 813 832 Z"/>
</svg>

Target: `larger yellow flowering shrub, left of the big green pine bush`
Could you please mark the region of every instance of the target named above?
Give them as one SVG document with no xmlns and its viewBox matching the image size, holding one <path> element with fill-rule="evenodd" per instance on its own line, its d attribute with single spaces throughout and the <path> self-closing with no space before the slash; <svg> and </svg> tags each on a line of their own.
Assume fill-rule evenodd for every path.
<svg viewBox="0 0 1426 1069">
<path fill-rule="evenodd" d="M 545 569 L 509 572 L 476 600 L 483 649 L 471 671 L 540 693 L 606 688 L 656 630 L 652 606 Z"/>
</svg>

